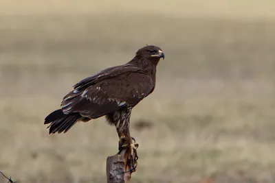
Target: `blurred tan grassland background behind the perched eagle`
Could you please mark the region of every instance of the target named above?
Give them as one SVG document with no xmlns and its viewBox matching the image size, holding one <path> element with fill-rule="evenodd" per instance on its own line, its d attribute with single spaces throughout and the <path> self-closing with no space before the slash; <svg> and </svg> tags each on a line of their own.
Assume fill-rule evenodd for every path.
<svg viewBox="0 0 275 183">
<path fill-rule="evenodd" d="M 104 118 L 49 135 L 72 86 L 135 51 L 166 59 L 132 112 L 131 182 L 275 182 L 275 1 L 0 2 L 0 170 L 17 182 L 106 182 Z M 7 182 L 0 176 L 0 182 Z"/>
</svg>

